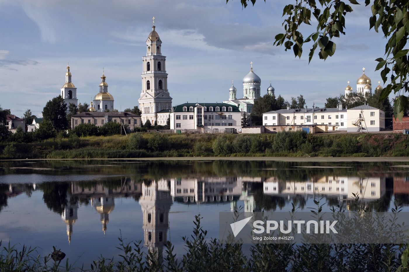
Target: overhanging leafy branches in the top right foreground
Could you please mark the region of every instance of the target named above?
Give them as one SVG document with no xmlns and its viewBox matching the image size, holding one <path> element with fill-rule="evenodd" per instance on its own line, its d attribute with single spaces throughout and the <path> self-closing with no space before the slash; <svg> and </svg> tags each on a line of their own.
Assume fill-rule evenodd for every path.
<svg viewBox="0 0 409 272">
<path fill-rule="evenodd" d="M 227 0 L 229 2 L 229 0 Z M 254 5 L 256 0 L 241 0 L 242 7 L 247 7 L 247 2 Z M 409 37 L 407 0 L 365 0 L 372 16 L 369 17 L 369 29 L 378 33 L 382 30 L 385 39 L 385 52 L 383 58 L 377 58 L 378 65 L 375 71 L 380 71 L 380 76 L 385 83 L 391 80 L 381 92 L 380 99 L 385 99 L 393 91 L 398 94 L 393 112 L 396 118 L 402 118 L 408 106 L 409 91 L 409 49 L 405 49 Z M 357 0 L 349 0 L 350 4 L 360 4 Z M 295 56 L 301 58 L 303 46 L 310 44 L 308 59 L 311 61 L 314 52 L 318 50 L 320 59 L 326 60 L 328 56 L 335 54 L 336 45 L 333 40 L 345 35 L 346 15 L 353 12 L 351 5 L 340 0 L 309 0 L 294 1 L 285 5 L 283 27 L 285 33 L 275 36 L 274 45 L 284 45 L 285 51 L 292 49 Z M 315 17 L 312 31 L 307 32 L 311 25 L 311 16 Z M 306 35 L 303 35 L 302 32 Z M 383 52 L 382 52 L 383 53 Z"/>
</svg>

